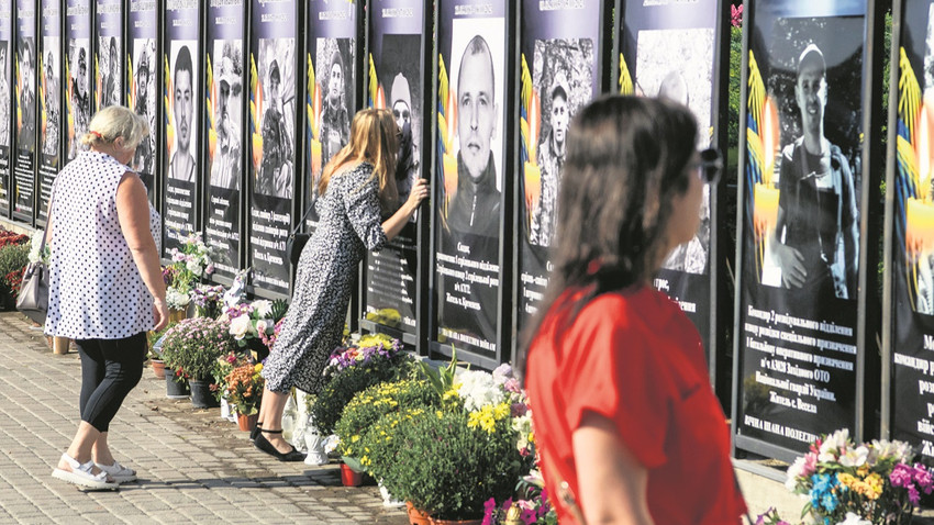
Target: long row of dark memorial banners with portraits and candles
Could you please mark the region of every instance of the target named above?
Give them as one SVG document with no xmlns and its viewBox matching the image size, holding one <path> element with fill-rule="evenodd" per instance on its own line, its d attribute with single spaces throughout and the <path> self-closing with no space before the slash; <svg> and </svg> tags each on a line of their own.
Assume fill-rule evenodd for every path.
<svg viewBox="0 0 934 525">
<path fill-rule="evenodd" d="M 882 432 L 934 449 L 934 13 L 897 2 L 887 155 L 881 16 L 812 3 L 746 3 L 737 257 L 721 183 L 654 284 L 694 322 L 721 394 L 733 378 L 737 449 L 789 458 L 836 428 L 863 436 L 877 407 Z M 125 104 L 153 131 L 133 168 L 164 255 L 200 232 L 219 282 L 251 268 L 255 294 L 287 298 L 289 234 L 318 228 L 354 113 L 385 108 L 400 200 L 418 178 L 432 199 L 365 259 L 354 323 L 492 368 L 547 306 L 577 111 L 667 97 L 694 112 L 699 149 L 725 152 L 729 29 L 722 0 L 0 0 L 0 214 L 42 226 L 93 112 Z"/>
</svg>

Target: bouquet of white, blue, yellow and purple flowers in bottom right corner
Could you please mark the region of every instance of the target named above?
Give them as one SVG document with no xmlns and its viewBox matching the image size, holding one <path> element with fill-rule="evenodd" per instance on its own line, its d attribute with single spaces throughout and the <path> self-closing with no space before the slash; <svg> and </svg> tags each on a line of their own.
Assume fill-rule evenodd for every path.
<svg viewBox="0 0 934 525">
<path fill-rule="evenodd" d="M 820 523 L 907 524 L 920 492 L 934 490 L 931 471 L 913 460 L 908 443 L 874 439 L 857 446 L 842 429 L 814 442 L 789 467 L 785 484 L 808 498 L 802 516 L 810 513 Z"/>
</svg>

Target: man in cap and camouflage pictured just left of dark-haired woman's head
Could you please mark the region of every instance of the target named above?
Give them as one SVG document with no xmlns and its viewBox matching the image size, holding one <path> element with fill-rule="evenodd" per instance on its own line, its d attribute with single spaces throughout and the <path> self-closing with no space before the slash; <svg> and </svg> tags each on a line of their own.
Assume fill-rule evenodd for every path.
<svg viewBox="0 0 934 525">
<path fill-rule="evenodd" d="M 555 75 L 548 90 L 548 107 L 545 118 L 548 132 L 538 143 L 538 169 L 542 174 L 542 197 L 532 213 L 530 242 L 536 246 L 551 246 L 558 219 L 558 188 L 565 164 L 565 142 L 570 125 L 569 88 L 564 72 Z"/>
</svg>

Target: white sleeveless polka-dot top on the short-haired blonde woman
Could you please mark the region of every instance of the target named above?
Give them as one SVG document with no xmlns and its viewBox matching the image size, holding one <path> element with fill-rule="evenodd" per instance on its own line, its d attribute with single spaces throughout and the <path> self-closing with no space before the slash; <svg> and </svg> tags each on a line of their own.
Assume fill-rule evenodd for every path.
<svg viewBox="0 0 934 525">
<path fill-rule="evenodd" d="M 153 329 L 153 298 L 116 216 L 116 187 L 126 171 L 110 155 L 82 152 L 55 178 L 48 335 L 120 339 Z M 159 239 L 152 205 L 149 232 Z"/>
</svg>

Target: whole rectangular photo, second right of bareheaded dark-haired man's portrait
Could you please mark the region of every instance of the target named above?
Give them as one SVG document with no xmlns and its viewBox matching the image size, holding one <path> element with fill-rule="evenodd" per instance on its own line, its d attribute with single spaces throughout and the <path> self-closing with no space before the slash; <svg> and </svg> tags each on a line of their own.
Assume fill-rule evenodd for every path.
<svg viewBox="0 0 934 525">
<path fill-rule="evenodd" d="M 262 93 L 263 160 L 254 191 L 291 199 L 294 179 L 296 40 L 259 38 L 256 68 Z"/>
</svg>

